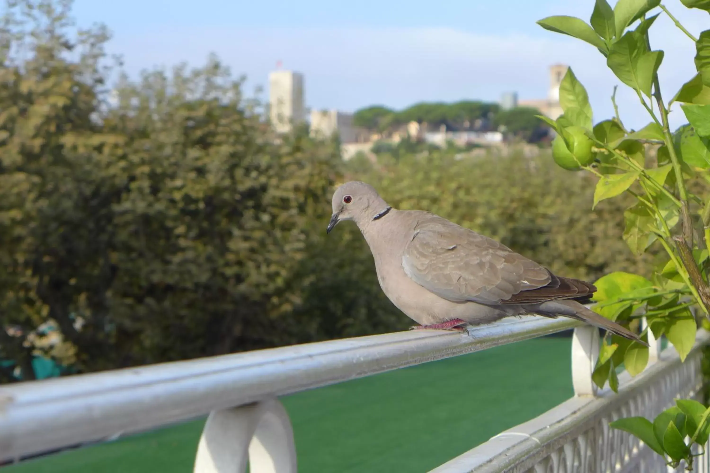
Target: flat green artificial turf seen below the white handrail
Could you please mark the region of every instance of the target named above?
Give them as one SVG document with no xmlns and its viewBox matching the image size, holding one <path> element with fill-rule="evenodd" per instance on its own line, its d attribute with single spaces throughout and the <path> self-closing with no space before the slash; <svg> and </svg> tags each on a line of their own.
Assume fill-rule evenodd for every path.
<svg viewBox="0 0 710 473">
<path fill-rule="evenodd" d="M 569 338 L 539 338 L 285 397 L 299 471 L 427 472 L 572 396 Z M 202 421 L 3 468 L 190 473 Z"/>
</svg>

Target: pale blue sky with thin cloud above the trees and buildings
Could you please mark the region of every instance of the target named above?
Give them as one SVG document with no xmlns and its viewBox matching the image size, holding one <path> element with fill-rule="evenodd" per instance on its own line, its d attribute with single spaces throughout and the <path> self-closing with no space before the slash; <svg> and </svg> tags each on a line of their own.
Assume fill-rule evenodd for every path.
<svg viewBox="0 0 710 473">
<path fill-rule="evenodd" d="M 547 67 L 569 64 L 589 91 L 595 120 L 613 113 L 618 79 L 590 45 L 535 24 L 554 14 L 589 19 L 592 0 L 75 0 L 82 26 L 102 22 L 114 33 L 111 52 L 129 73 L 187 61 L 209 52 L 265 86 L 278 60 L 305 74 L 307 106 L 354 111 L 371 104 L 403 108 L 417 101 L 497 101 L 505 91 L 544 98 Z M 678 0 L 667 6 L 692 33 L 710 28 L 706 13 Z M 694 45 L 664 15 L 652 47 L 666 51 L 660 69 L 670 97 L 692 77 Z M 627 124 L 648 122 L 635 93 L 620 87 Z M 672 115 L 682 123 L 680 111 Z"/>
</svg>

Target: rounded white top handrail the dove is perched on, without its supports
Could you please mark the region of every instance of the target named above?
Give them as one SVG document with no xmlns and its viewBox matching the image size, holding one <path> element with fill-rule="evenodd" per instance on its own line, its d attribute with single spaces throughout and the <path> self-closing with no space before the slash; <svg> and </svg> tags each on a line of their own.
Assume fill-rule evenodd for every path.
<svg viewBox="0 0 710 473">
<path fill-rule="evenodd" d="M 469 328 L 468 335 L 389 333 L 1 386 L 0 461 L 578 325 L 568 318 L 526 316 Z"/>
</svg>

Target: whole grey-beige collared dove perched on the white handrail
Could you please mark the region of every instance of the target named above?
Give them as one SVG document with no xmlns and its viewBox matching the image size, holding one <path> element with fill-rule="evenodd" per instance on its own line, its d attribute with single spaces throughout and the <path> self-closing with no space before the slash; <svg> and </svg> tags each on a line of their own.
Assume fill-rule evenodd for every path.
<svg viewBox="0 0 710 473">
<path fill-rule="evenodd" d="M 555 276 L 496 240 L 430 212 L 395 210 L 364 182 L 342 184 L 332 206 L 327 233 L 340 221 L 356 223 L 382 290 L 420 324 L 413 328 L 463 330 L 466 323 L 539 314 L 574 318 L 647 345 L 579 303 L 595 286 Z"/>
</svg>

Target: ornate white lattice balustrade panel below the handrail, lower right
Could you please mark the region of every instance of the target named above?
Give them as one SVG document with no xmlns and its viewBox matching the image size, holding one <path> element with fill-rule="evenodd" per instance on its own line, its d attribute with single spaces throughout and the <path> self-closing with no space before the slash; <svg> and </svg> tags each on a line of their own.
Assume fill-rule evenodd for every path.
<svg viewBox="0 0 710 473">
<path fill-rule="evenodd" d="M 675 399 L 703 399 L 701 348 L 710 334 L 701 330 L 685 362 L 669 347 L 640 375 L 619 374 L 619 392 L 575 396 L 526 423 L 432 470 L 431 473 L 684 472 L 628 433 L 609 428 L 618 418 L 655 418 Z M 705 445 L 704 451 L 709 451 Z M 697 453 L 697 451 L 696 451 Z M 710 472 L 710 455 L 696 457 L 694 472 Z"/>
</svg>

